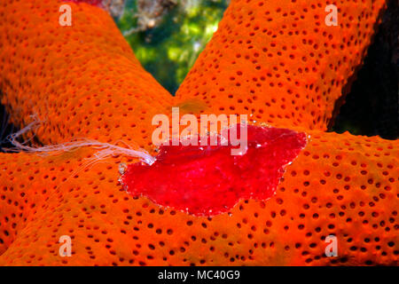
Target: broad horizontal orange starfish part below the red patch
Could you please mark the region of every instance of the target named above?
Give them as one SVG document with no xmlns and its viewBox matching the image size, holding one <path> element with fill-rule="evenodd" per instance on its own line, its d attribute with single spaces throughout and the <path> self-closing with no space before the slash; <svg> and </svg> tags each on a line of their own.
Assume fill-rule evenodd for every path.
<svg viewBox="0 0 399 284">
<path fill-rule="evenodd" d="M 0 264 L 397 264 L 397 143 L 310 132 L 274 197 L 193 217 L 134 200 L 120 158 L 3 154 Z M 339 257 L 325 256 L 334 234 Z M 73 239 L 60 257 L 59 237 Z"/>
</svg>

